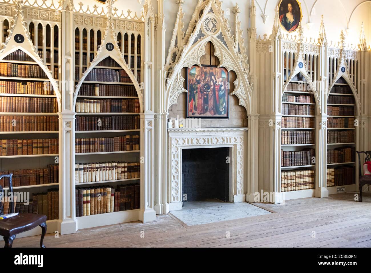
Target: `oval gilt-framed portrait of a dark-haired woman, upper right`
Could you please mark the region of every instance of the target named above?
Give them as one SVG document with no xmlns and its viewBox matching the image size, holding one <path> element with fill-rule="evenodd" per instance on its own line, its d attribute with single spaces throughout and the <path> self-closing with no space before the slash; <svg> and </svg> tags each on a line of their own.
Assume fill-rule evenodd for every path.
<svg viewBox="0 0 371 273">
<path fill-rule="evenodd" d="M 297 0 L 281 0 L 278 8 L 279 20 L 283 29 L 295 31 L 302 19 L 302 10 Z"/>
</svg>

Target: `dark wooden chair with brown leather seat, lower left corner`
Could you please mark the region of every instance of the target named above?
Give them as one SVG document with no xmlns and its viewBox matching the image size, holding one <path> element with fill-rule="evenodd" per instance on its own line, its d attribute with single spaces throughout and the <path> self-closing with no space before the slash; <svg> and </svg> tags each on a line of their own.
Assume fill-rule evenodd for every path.
<svg viewBox="0 0 371 273">
<path fill-rule="evenodd" d="M 12 176 L 13 173 L 9 175 L 0 175 L 0 179 L 4 177 L 9 178 L 9 191 L 13 193 L 13 185 L 12 185 Z M 4 195 L 4 190 L 0 185 L 0 195 L 2 194 L 3 198 L 7 198 Z M 3 214 L 4 203 L 0 202 L 0 215 Z M 14 211 L 14 200 L 10 200 L 9 202 L 9 212 Z M 42 229 L 41 240 L 40 240 L 40 247 L 44 246 L 44 237 L 46 234 L 46 215 L 42 214 L 33 214 L 33 213 L 20 213 L 17 216 L 0 220 L 0 235 L 4 237 L 5 246 L 4 247 L 12 247 L 13 240 L 16 238 L 16 235 L 22 233 L 27 230 L 32 230 L 33 228 L 40 226 Z"/>
</svg>

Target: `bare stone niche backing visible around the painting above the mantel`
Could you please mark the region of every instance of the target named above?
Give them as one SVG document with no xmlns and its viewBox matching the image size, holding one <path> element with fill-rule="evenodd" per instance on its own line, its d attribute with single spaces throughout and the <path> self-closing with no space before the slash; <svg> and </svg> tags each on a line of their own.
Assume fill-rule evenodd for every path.
<svg viewBox="0 0 371 273">
<path fill-rule="evenodd" d="M 205 44 L 204 54 L 200 57 L 199 63 L 201 67 L 203 65 L 220 66 L 220 59 L 215 55 L 215 46 L 209 41 Z M 199 65 L 199 64 L 195 64 Z M 228 69 L 227 69 L 228 70 Z M 181 77 L 186 79 L 188 67 L 184 66 L 181 69 Z M 246 108 L 239 104 L 239 100 L 236 95 L 232 93 L 236 90 L 237 74 L 233 69 L 228 71 L 229 75 L 229 118 L 228 119 L 216 119 L 216 118 L 205 118 L 202 122 L 202 127 L 247 127 L 247 113 Z M 189 80 L 189 79 L 188 79 Z M 183 88 L 187 90 L 187 81 L 183 81 Z M 186 118 L 189 103 L 187 102 L 187 92 L 182 92 L 177 98 L 177 103 L 173 104 L 168 108 L 169 118 Z"/>
</svg>

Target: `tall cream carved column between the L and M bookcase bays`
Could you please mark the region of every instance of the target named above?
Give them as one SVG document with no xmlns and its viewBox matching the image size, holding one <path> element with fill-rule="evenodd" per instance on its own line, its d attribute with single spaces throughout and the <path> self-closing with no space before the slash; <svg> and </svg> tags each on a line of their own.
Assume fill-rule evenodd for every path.
<svg viewBox="0 0 371 273">
<path fill-rule="evenodd" d="M 62 111 L 59 113 L 59 222 L 61 234 L 75 233 L 75 111 L 73 91 L 75 60 L 73 33 L 73 3 L 62 5 L 62 78 L 59 82 L 62 92 Z"/>
</svg>

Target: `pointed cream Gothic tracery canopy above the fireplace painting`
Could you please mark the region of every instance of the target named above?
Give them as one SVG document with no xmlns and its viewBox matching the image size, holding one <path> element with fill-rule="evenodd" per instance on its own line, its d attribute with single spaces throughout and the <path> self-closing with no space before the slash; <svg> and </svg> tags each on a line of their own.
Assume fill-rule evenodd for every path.
<svg viewBox="0 0 371 273">
<path fill-rule="evenodd" d="M 166 109 L 177 103 L 177 98 L 182 92 L 184 78 L 180 76 L 183 67 L 190 68 L 192 65 L 201 65 L 200 58 L 205 54 L 207 42 L 211 41 L 215 47 L 214 55 L 220 60 L 220 67 L 228 71 L 236 72 L 239 80 L 235 85 L 235 91 L 231 94 L 237 95 L 239 103 L 251 112 L 252 85 L 249 84 L 249 65 L 247 63 L 246 47 L 242 38 L 240 24 L 237 23 L 236 36 L 230 33 L 227 19 L 219 0 L 199 0 L 193 13 L 188 29 L 183 36 L 183 13 L 184 1 L 178 0 L 179 10 L 177 21 L 173 31 L 173 37 L 167 56 L 165 70 L 167 72 L 166 85 Z M 234 9 L 237 13 L 238 6 Z M 199 14 L 202 14 L 197 20 Z M 238 17 L 236 16 L 236 20 Z M 210 23 L 212 22 L 212 23 Z M 206 25 L 205 25 L 206 24 Z M 211 25 L 210 25 L 211 24 Z M 208 30 L 208 27 L 211 29 Z M 190 34 L 190 29 L 192 33 Z M 203 35 L 199 35 L 203 33 Z M 197 35 L 199 35 L 197 37 Z M 194 42 L 196 37 L 197 42 Z M 238 45 L 238 46 L 237 46 Z"/>
</svg>

